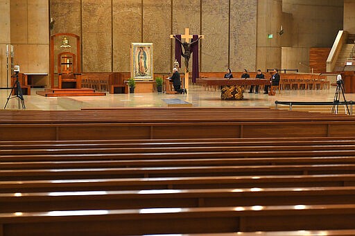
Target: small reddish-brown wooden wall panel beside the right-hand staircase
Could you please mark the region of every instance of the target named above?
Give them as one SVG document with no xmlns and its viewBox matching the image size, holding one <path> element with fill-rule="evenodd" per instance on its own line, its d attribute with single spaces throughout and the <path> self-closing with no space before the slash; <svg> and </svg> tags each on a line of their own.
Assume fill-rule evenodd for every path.
<svg viewBox="0 0 355 236">
<path fill-rule="evenodd" d="M 309 66 L 313 68 L 313 73 L 323 73 L 327 71 L 327 59 L 331 48 L 309 48 Z"/>
</svg>

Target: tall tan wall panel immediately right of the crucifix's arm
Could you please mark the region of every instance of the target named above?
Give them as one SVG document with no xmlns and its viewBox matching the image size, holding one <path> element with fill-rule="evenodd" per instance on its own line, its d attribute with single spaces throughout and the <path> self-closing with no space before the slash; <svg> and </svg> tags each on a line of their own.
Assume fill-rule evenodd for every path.
<svg viewBox="0 0 355 236">
<path fill-rule="evenodd" d="M 202 0 L 201 71 L 228 68 L 229 1 Z"/>
</svg>

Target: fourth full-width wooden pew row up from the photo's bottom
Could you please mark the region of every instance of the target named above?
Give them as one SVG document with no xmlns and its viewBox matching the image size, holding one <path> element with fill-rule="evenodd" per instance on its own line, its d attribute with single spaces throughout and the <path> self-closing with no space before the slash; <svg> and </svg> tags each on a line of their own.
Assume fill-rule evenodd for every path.
<svg viewBox="0 0 355 236">
<path fill-rule="evenodd" d="M 50 170 L 2 170 L 0 181 L 62 179 L 127 179 L 189 176 L 270 176 L 302 174 L 355 174 L 355 164 L 338 165 L 250 165 L 196 167 L 130 167 Z"/>
</svg>

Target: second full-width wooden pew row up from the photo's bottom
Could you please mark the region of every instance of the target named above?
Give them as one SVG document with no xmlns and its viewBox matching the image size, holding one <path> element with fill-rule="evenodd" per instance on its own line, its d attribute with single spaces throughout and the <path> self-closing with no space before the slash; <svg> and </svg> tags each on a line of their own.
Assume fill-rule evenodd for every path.
<svg viewBox="0 0 355 236">
<path fill-rule="evenodd" d="M 31 192 L 0 194 L 0 212 L 355 204 L 355 187 Z"/>
</svg>

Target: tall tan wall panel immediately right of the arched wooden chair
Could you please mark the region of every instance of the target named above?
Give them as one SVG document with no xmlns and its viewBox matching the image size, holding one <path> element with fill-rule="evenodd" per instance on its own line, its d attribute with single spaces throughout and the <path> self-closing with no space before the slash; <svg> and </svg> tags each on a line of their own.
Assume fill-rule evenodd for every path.
<svg viewBox="0 0 355 236">
<path fill-rule="evenodd" d="M 83 71 L 112 71 L 111 0 L 83 0 Z"/>
</svg>

